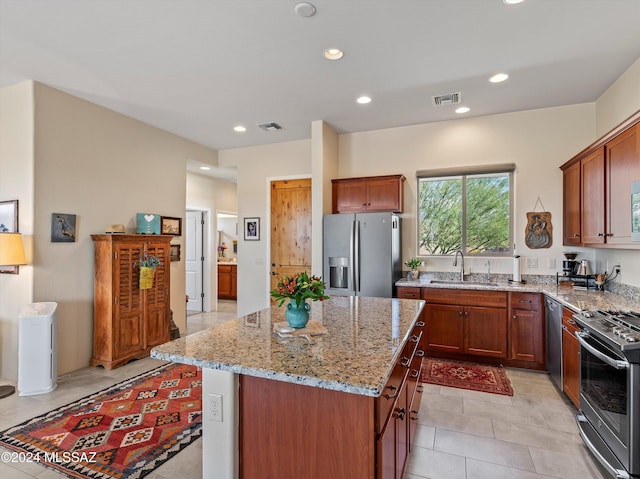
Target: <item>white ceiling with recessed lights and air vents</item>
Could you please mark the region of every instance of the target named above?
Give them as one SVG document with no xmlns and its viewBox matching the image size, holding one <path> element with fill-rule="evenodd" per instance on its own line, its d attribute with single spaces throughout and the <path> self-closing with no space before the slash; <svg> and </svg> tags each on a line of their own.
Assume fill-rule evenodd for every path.
<svg viewBox="0 0 640 479">
<path fill-rule="evenodd" d="M 311 18 L 297 3 L 0 0 L 0 87 L 37 80 L 227 149 L 309 138 L 313 120 L 460 118 L 431 100 L 457 91 L 467 117 L 593 102 L 640 58 L 640 0 L 315 0 Z"/>
</svg>

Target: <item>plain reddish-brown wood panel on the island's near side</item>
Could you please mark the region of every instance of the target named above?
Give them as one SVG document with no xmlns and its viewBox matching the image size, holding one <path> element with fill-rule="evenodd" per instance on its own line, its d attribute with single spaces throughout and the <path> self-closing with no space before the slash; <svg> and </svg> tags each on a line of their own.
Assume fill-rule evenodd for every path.
<svg viewBox="0 0 640 479">
<path fill-rule="evenodd" d="M 374 398 L 243 375 L 239 407 L 242 479 L 375 478 Z"/>
</svg>

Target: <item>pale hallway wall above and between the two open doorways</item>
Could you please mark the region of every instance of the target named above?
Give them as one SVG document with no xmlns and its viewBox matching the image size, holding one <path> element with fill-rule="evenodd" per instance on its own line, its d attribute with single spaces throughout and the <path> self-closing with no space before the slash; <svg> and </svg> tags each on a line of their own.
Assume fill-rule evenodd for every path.
<svg viewBox="0 0 640 479">
<path fill-rule="evenodd" d="M 217 152 L 216 152 L 217 156 Z M 218 269 L 216 267 L 216 212 L 236 213 L 238 211 L 238 188 L 235 183 L 222 181 L 209 176 L 187 173 L 187 209 L 205 211 L 208 217 L 208 230 L 206 232 L 206 247 L 209 258 L 208 285 L 211 298 L 211 310 L 216 309 L 218 297 Z M 232 245 L 229 244 L 229 248 Z"/>
</svg>

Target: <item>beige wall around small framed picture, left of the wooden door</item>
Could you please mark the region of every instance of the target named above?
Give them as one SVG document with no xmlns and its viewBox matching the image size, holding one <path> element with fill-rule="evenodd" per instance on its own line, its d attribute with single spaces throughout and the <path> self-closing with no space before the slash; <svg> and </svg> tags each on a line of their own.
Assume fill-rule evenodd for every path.
<svg viewBox="0 0 640 479">
<path fill-rule="evenodd" d="M 243 218 L 260 218 L 260 241 L 244 241 L 238 231 L 238 314 L 243 315 L 269 304 L 269 185 L 311 176 L 311 141 L 221 150 L 218 161 L 238 168 L 240 230 Z"/>
</svg>

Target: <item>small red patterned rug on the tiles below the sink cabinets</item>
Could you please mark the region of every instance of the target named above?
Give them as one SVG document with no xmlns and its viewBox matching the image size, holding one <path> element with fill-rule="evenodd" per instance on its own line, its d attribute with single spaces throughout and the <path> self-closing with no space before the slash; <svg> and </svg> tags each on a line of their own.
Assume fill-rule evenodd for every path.
<svg viewBox="0 0 640 479">
<path fill-rule="evenodd" d="M 513 388 L 503 367 L 426 358 L 422 365 L 423 383 L 471 389 L 513 396 Z"/>
</svg>

